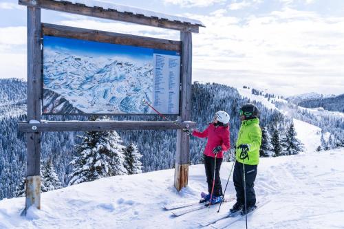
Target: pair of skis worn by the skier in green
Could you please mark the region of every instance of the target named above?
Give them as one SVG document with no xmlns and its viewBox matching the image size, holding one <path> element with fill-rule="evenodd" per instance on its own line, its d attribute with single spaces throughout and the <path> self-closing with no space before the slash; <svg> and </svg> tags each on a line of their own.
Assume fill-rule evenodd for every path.
<svg viewBox="0 0 344 229">
<path fill-rule="evenodd" d="M 268 204 L 269 202 L 270 202 L 270 200 L 258 201 L 257 202 L 257 208 L 255 210 L 253 210 L 252 212 L 255 212 L 258 208 L 261 208 L 262 206 Z M 252 212 L 248 212 L 247 215 L 251 215 Z M 230 226 L 231 224 L 235 223 L 236 221 L 239 221 L 243 217 L 245 217 L 245 215 L 240 215 L 239 212 L 235 212 L 233 214 L 222 215 L 220 217 L 217 217 L 217 219 L 202 221 L 202 222 L 200 222 L 200 226 L 203 226 L 203 227 L 212 226 L 213 228 L 216 228 L 216 229 L 223 229 L 223 228 L 226 228 L 226 227 Z M 226 219 L 228 219 L 228 220 L 226 220 Z M 222 221 L 224 221 L 224 223 L 220 223 L 220 224 L 223 227 L 221 227 L 221 225 L 219 225 L 219 226 L 215 225 L 218 222 L 222 222 Z"/>
</svg>

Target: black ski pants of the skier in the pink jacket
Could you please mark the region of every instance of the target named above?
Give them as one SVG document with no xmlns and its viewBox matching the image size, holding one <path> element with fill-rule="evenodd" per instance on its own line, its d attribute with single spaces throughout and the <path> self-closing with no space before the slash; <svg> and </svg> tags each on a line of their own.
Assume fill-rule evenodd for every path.
<svg viewBox="0 0 344 229">
<path fill-rule="evenodd" d="M 216 171 L 215 171 L 215 184 L 213 195 L 220 196 L 222 195 L 222 186 L 221 179 L 219 177 L 219 169 L 221 168 L 222 158 L 216 158 Z M 204 167 L 206 168 L 206 182 L 208 183 L 208 193 L 211 193 L 213 188 L 213 176 L 215 168 L 215 159 L 214 157 L 208 157 L 204 155 Z"/>
</svg>

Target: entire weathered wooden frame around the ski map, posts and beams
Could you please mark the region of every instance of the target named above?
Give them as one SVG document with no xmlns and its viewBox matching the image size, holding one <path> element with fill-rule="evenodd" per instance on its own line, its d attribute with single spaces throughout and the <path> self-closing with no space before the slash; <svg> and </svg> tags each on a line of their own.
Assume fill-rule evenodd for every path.
<svg viewBox="0 0 344 229">
<path fill-rule="evenodd" d="M 43 32 L 58 35 L 63 32 L 69 36 L 98 39 L 98 41 L 129 42 L 131 44 L 147 45 L 147 47 L 160 47 L 164 45 L 171 50 L 181 51 L 181 93 L 180 116 L 175 123 L 181 127 L 193 128 L 195 122 L 191 118 L 191 81 L 192 81 L 192 38 L 191 32 L 198 32 L 202 23 L 193 23 L 192 20 L 178 21 L 173 17 L 158 18 L 149 12 L 145 14 L 133 12 L 120 12 L 112 8 L 90 7 L 80 3 L 60 0 L 19 0 L 19 5 L 27 6 L 28 20 L 28 119 L 19 123 L 19 131 L 26 133 L 27 139 L 27 179 L 25 210 L 30 206 L 41 208 L 40 195 L 40 157 L 41 157 L 41 132 L 43 131 L 106 131 L 114 129 L 178 129 L 177 152 L 175 156 L 175 188 L 180 190 L 187 186 L 189 177 L 189 136 L 182 133 L 182 129 L 173 122 L 41 122 L 41 74 L 42 55 L 41 37 Z M 61 25 L 41 24 L 41 8 L 57 10 L 89 17 L 125 21 L 140 25 L 149 25 L 180 31 L 180 41 L 166 41 L 151 39 L 142 36 L 127 34 L 99 32 L 80 28 L 67 28 Z M 172 19 L 171 19 L 172 18 Z M 42 32 L 43 31 L 43 32 Z"/>
</svg>

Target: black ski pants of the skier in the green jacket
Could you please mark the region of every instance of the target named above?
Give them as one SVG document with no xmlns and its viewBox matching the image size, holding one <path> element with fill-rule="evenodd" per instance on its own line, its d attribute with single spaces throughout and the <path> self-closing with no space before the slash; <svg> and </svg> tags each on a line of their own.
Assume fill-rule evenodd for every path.
<svg viewBox="0 0 344 229">
<path fill-rule="evenodd" d="M 257 176 L 257 165 L 245 164 L 246 178 L 246 204 L 252 206 L 256 204 L 255 179 Z M 237 202 L 245 204 L 244 197 L 244 164 L 235 162 L 233 183 L 237 191 Z"/>
</svg>

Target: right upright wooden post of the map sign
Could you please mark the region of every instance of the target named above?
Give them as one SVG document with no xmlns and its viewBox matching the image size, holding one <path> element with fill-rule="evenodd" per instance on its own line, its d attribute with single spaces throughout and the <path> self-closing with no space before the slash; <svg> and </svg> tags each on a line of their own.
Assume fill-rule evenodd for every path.
<svg viewBox="0 0 344 229">
<path fill-rule="evenodd" d="M 192 68 L 192 39 L 191 32 L 180 32 L 182 40 L 182 69 L 181 69 L 181 111 L 178 121 L 189 121 L 191 118 L 191 68 Z M 189 178 L 190 139 L 182 130 L 177 130 L 177 154 L 175 155 L 174 185 L 179 191 L 188 185 Z"/>
</svg>

